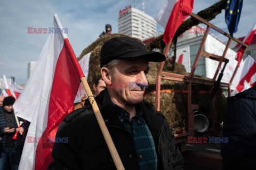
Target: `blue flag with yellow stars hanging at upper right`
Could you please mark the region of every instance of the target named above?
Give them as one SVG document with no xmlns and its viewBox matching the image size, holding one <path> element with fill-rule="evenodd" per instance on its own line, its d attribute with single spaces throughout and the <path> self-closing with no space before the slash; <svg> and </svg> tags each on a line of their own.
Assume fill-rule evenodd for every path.
<svg viewBox="0 0 256 170">
<path fill-rule="evenodd" d="M 243 0 L 228 0 L 226 5 L 225 20 L 228 25 L 229 34 L 233 37 L 236 33 L 243 6 Z"/>
</svg>

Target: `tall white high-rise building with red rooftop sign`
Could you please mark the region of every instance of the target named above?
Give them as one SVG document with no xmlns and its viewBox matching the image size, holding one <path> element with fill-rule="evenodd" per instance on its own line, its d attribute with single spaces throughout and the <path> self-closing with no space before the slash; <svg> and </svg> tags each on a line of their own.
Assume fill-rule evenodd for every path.
<svg viewBox="0 0 256 170">
<path fill-rule="evenodd" d="M 126 6 L 119 11 L 118 33 L 143 41 L 156 34 L 156 21 L 144 12 Z"/>
</svg>

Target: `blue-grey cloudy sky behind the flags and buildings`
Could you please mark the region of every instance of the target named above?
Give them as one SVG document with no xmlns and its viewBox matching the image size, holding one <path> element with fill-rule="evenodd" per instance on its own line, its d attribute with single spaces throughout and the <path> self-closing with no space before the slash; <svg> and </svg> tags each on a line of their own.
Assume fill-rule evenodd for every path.
<svg viewBox="0 0 256 170">
<path fill-rule="evenodd" d="M 218 2 L 195 0 L 193 12 L 197 13 Z M 145 0 L 145 13 L 156 17 L 165 0 Z M 0 77 L 13 76 L 17 84 L 27 81 L 29 61 L 37 61 L 49 34 L 27 34 L 27 27 L 48 28 L 53 26 L 53 15 L 58 14 L 62 26 L 68 28 L 69 41 L 76 56 L 94 42 L 109 23 L 118 33 L 118 13 L 125 6 L 134 6 L 134 1 L 0 1 Z M 135 7 L 142 10 L 142 1 Z M 256 1 L 245 0 L 234 37 L 245 36 L 256 21 Z M 211 21 L 219 28 L 227 28 L 225 11 Z M 157 25 L 157 33 L 164 31 Z M 219 35 L 217 35 L 219 36 Z M 219 38 L 223 38 L 219 36 Z"/>
</svg>

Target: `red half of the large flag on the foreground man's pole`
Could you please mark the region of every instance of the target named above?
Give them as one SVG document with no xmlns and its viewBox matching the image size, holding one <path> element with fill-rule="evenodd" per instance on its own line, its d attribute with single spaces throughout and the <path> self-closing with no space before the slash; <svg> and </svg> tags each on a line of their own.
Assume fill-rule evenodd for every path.
<svg viewBox="0 0 256 170">
<path fill-rule="evenodd" d="M 47 127 L 36 149 L 35 169 L 47 169 L 52 162 L 49 153 L 52 151 L 54 141 L 45 143 L 44 139 L 47 137 L 47 139 L 54 140 L 59 124 L 69 112 L 74 110 L 74 99 L 78 91 L 80 78 L 83 76 L 83 71 L 68 38 L 65 38 L 54 72 Z"/>
</svg>

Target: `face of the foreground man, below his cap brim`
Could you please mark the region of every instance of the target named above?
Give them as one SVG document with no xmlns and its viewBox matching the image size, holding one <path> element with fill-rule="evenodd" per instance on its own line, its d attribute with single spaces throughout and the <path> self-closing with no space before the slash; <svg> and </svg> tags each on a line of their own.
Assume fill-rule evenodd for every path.
<svg viewBox="0 0 256 170">
<path fill-rule="evenodd" d="M 148 86 L 146 77 L 148 71 L 149 64 L 145 58 L 119 60 L 114 74 L 110 74 L 111 82 L 117 85 L 116 88 L 110 90 L 115 95 L 115 100 L 124 105 L 141 103 L 145 86 Z M 126 87 L 122 84 L 126 84 Z"/>
</svg>

